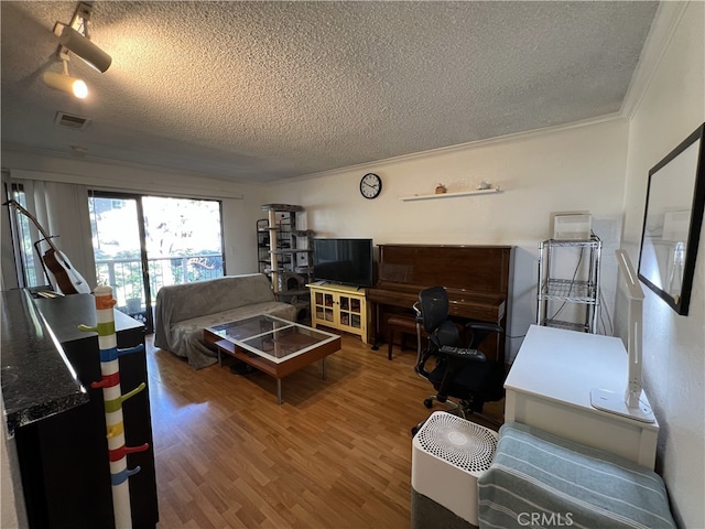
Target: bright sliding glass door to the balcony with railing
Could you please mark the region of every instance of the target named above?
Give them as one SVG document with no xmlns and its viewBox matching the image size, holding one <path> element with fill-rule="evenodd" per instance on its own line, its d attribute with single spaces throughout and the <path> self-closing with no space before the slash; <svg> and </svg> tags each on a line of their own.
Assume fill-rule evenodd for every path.
<svg viewBox="0 0 705 529">
<path fill-rule="evenodd" d="M 162 287 L 223 277 L 219 202 L 95 192 L 88 203 L 98 283 L 148 333 Z"/>
</svg>

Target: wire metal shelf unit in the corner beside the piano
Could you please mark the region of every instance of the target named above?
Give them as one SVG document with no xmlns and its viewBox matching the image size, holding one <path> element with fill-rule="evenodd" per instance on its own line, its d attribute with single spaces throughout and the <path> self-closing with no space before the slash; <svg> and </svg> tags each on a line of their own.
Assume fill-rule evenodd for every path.
<svg viewBox="0 0 705 529">
<path fill-rule="evenodd" d="M 603 241 L 547 239 L 539 244 L 536 323 L 597 332 Z"/>
</svg>

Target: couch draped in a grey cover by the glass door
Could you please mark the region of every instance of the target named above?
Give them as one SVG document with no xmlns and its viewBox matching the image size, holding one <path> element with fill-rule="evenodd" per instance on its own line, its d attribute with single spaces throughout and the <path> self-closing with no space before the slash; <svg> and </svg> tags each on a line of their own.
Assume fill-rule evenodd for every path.
<svg viewBox="0 0 705 529">
<path fill-rule="evenodd" d="M 257 314 L 296 317 L 295 306 L 274 300 L 262 273 L 162 287 L 156 294 L 154 346 L 187 358 L 194 369 L 208 367 L 218 361 L 217 353 L 204 342 L 203 330 Z"/>
</svg>

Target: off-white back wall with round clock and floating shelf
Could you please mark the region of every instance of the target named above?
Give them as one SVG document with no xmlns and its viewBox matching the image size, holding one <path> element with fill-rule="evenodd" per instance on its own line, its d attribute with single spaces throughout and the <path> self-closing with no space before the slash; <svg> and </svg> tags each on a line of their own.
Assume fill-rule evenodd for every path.
<svg viewBox="0 0 705 529">
<path fill-rule="evenodd" d="M 375 244 L 513 245 L 516 249 L 511 336 L 523 336 L 535 321 L 536 258 L 540 240 L 552 235 L 551 214 L 589 212 L 605 241 L 603 278 L 611 314 L 621 231 L 627 155 L 626 120 L 575 127 L 512 139 L 442 149 L 336 171 L 278 185 L 271 202 L 301 204 L 308 227 L 321 237 L 371 237 Z M 382 193 L 364 198 L 367 172 L 382 177 Z M 474 190 L 480 181 L 501 193 L 402 202 L 432 194 Z M 510 355 L 521 338 L 510 339 Z"/>
</svg>

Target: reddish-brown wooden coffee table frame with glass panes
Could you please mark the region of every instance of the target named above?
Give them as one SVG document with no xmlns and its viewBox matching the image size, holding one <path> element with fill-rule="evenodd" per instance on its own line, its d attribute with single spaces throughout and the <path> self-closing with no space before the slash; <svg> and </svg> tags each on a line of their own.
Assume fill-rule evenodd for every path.
<svg viewBox="0 0 705 529">
<path fill-rule="evenodd" d="M 299 323 L 293 323 L 299 327 L 304 327 L 306 330 L 314 331 L 317 334 L 327 334 L 329 336 L 330 333 L 325 333 L 319 330 L 315 330 L 312 327 L 307 327 L 305 325 L 301 325 Z M 240 347 L 236 342 L 223 338 L 221 336 L 210 332 L 207 328 L 204 328 L 203 332 L 204 339 L 206 343 L 213 345 L 218 352 L 218 363 L 223 365 L 223 353 L 237 358 L 246 363 L 249 366 L 252 366 L 259 371 L 265 373 L 267 375 L 274 377 L 276 379 L 276 403 L 281 404 L 283 402 L 282 399 L 282 378 L 295 373 L 300 369 L 303 369 L 306 366 L 310 366 L 316 360 L 322 361 L 322 378 L 325 380 L 326 378 L 326 356 L 335 353 L 336 350 L 340 350 L 340 336 L 335 336 L 335 339 L 330 342 L 325 342 L 321 345 L 314 345 L 311 350 L 305 353 L 292 355 L 291 358 L 284 358 L 280 363 L 275 363 L 267 359 L 263 356 L 253 356 L 252 353 L 243 347 Z"/>
</svg>

